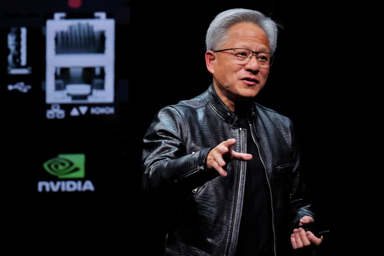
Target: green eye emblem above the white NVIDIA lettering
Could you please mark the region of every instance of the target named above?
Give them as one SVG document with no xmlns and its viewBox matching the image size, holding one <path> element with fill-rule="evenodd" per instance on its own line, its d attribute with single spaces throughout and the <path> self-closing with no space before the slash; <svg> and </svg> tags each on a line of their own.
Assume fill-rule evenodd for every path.
<svg viewBox="0 0 384 256">
<path fill-rule="evenodd" d="M 58 178 L 84 178 L 84 154 L 60 154 L 43 164 L 44 169 Z"/>
</svg>

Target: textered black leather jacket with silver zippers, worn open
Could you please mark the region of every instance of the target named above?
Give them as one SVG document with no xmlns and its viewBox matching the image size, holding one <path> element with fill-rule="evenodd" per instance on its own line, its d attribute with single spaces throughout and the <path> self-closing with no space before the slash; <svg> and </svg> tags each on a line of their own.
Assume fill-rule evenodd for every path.
<svg viewBox="0 0 384 256">
<path fill-rule="evenodd" d="M 266 171 L 275 255 L 280 255 L 283 244 L 290 243 L 293 225 L 305 215 L 314 218 L 303 197 L 300 155 L 288 117 L 255 103 L 248 121 Z M 229 162 L 227 177 L 205 166 L 209 150 L 230 138 L 237 140 L 233 150 L 246 153 L 246 130 L 237 126 L 237 116 L 223 104 L 213 84 L 194 99 L 161 109 L 149 127 L 142 188 L 174 195 L 166 254 L 235 252 L 247 164 Z"/>
</svg>

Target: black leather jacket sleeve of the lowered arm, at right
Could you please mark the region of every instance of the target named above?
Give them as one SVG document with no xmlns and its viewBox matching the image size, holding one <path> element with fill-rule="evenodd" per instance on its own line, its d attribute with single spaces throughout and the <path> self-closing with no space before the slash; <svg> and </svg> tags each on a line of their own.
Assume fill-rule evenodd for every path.
<svg viewBox="0 0 384 256">
<path fill-rule="evenodd" d="M 306 182 L 303 170 L 300 164 L 300 150 L 296 142 L 295 132 L 291 124 L 291 136 L 294 150 L 294 162 L 293 162 L 293 183 L 291 190 L 291 216 L 292 216 L 292 228 L 299 225 L 299 221 L 304 216 L 311 216 L 314 220 L 315 213 L 312 208 L 312 203 L 308 190 L 306 189 Z"/>
</svg>

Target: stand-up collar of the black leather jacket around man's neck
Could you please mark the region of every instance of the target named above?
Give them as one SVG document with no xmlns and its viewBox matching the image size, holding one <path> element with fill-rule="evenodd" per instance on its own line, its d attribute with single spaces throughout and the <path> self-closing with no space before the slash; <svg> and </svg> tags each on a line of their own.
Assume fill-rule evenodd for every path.
<svg viewBox="0 0 384 256">
<path fill-rule="evenodd" d="M 210 84 L 207 91 L 204 92 L 204 97 L 207 99 L 208 104 L 210 107 L 217 113 L 218 116 L 220 116 L 225 122 L 230 124 L 230 126 L 237 126 L 238 124 L 238 117 L 235 113 L 230 111 L 230 109 L 224 104 L 224 102 L 220 99 L 220 97 L 217 95 L 214 84 Z M 255 126 L 255 120 L 257 116 L 256 111 L 256 104 L 253 101 L 252 106 L 252 124 L 253 128 L 255 129 L 256 136 L 260 139 L 260 136 L 258 135 L 256 126 Z"/>
</svg>

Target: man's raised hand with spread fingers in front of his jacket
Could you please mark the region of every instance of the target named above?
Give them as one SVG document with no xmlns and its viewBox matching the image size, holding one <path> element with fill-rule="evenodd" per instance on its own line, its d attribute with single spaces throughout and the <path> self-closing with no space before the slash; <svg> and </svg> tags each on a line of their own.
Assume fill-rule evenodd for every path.
<svg viewBox="0 0 384 256">
<path fill-rule="evenodd" d="M 207 155 L 207 167 L 209 169 L 216 169 L 221 176 L 227 176 L 227 172 L 222 168 L 227 162 L 232 160 L 249 161 L 252 159 L 251 154 L 238 153 L 232 150 L 233 145 L 236 144 L 235 139 L 228 139 L 218 144 Z M 224 160 L 225 159 L 225 160 Z"/>
</svg>

